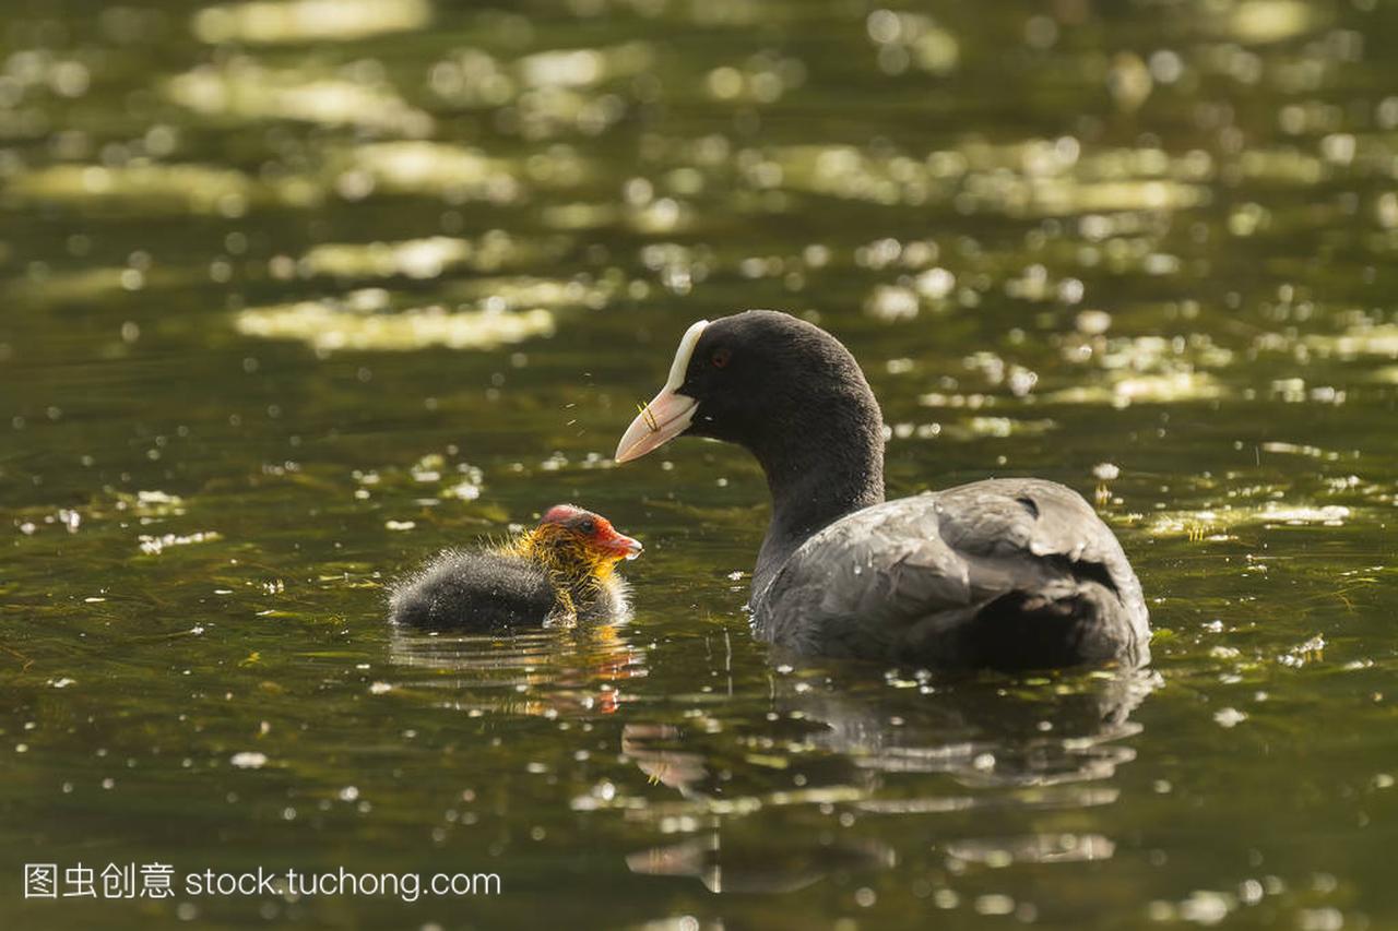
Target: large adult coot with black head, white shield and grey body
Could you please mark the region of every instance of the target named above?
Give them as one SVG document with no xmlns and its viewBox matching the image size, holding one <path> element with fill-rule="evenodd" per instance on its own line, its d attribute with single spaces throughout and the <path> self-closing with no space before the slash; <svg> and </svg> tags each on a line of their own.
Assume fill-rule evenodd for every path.
<svg viewBox="0 0 1398 931">
<path fill-rule="evenodd" d="M 772 520 L 749 605 L 777 646 L 925 667 L 1149 661 L 1141 584 L 1081 495 L 1002 478 L 886 502 L 882 426 L 839 340 L 748 310 L 689 327 L 617 461 L 681 433 L 756 456 Z"/>
</svg>

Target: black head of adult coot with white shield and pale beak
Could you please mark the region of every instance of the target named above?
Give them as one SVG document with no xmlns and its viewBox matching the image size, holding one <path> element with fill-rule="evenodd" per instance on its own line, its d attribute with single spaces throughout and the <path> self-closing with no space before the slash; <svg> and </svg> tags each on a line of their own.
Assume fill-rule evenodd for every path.
<svg viewBox="0 0 1398 931">
<path fill-rule="evenodd" d="M 622 436 L 617 461 L 682 433 L 762 456 L 808 425 L 847 419 L 870 404 L 854 358 L 814 324 L 773 310 L 700 320 L 681 340 L 665 386 Z"/>
</svg>

